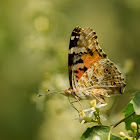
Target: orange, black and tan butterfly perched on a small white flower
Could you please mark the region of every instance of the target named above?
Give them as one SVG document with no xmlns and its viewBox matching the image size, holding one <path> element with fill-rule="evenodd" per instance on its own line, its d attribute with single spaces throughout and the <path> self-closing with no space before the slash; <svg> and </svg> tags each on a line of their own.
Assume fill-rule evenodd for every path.
<svg viewBox="0 0 140 140">
<path fill-rule="evenodd" d="M 124 92 L 126 84 L 121 72 L 101 49 L 91 28 L 77 26 L 72 31 L 68 69 L 70 88 L 64 91 L 65 96 L 106 103 L 104 97 Z"/>
</svg>

